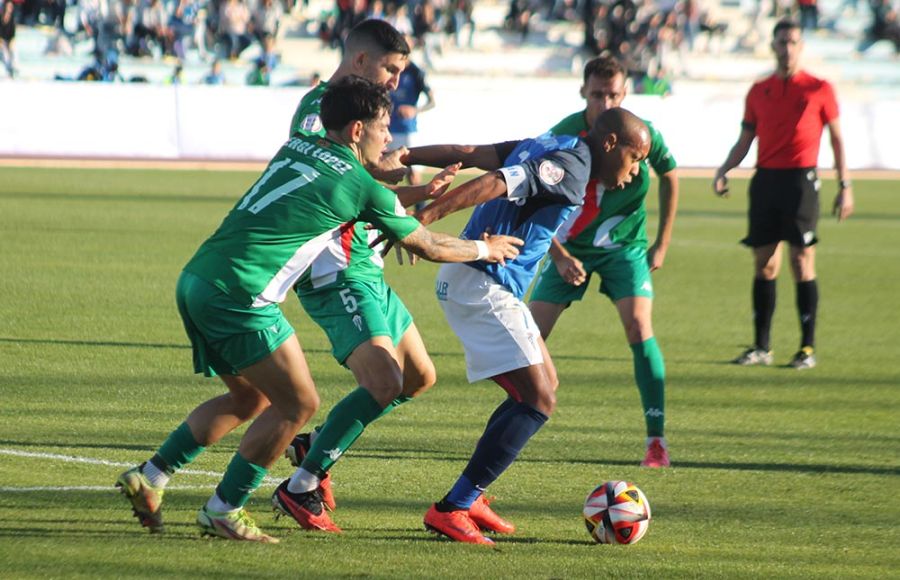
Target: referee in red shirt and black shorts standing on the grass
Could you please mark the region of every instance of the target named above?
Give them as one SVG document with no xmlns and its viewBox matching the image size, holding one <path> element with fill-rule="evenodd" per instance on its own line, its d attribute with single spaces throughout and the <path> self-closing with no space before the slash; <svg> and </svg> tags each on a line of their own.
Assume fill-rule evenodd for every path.
<svg viewBox="0 0 900 580">
<path fill-rule="evenodd" d="M 758 137 L 756 173 L 750 181 L 749 231 L 742 240 L 753 250 L 755 339 L 753 346 L 733 362 L 745 366 L 772 364 L 770 331 L 775 314 L 775 280 L 781 269 L 782 242 L 786 241 L 790 246 L 801 332 L 800 350 L 787 366 L 802 370 L 816 366 L 819 287 L 815 244 L 820 187 L 816 166 L 826 126 L 838 177 L 838 193 L 832 205 L 838 221 L 853 213 L 853 188 L 834 89 L 828 81 L 800 69 L 803 36 L 799 24 L 781 20 L 772 34 L 775 73 L 754 83 L 747 93 L 741 133 L 716 171 L 713 191 L 720 196 L 728 194 L 728 171 L 740 164 Z"/>
</svg>

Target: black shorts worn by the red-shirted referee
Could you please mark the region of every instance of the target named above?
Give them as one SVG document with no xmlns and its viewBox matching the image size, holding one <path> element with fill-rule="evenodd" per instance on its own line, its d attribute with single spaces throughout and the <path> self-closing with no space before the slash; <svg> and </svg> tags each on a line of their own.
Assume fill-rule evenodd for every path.
<svg viewBox="0 0 900 580">
<path fill-rule="evenodd" d="M 749 232 L 741 243 L 758 248 L 781 241 L 812 246 L 819 223 L 816 169 L 757 169 L 750 180 Z"/>
</svg>

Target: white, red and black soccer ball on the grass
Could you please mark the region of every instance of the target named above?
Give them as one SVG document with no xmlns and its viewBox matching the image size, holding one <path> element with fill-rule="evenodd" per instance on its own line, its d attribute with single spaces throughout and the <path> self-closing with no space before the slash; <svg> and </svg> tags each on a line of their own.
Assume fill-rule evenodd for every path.
<svg viewBox="0 0 900 580">
<path fill-rule="evenodd" d="M 598 544 L 634 544 L 650 526 L 650 504 L 633 483 L 607 481 L 584 500 L 584 525 Z"/>
</svg>

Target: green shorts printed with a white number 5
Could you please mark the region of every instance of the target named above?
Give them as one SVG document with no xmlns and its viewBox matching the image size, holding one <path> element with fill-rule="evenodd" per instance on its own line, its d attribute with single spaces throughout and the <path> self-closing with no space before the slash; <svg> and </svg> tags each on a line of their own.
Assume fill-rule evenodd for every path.
<svg viewBox="0 0 900 580">
<path fill-rule="evenodd" d="M 390 336 L 396 346 L 412 324 L 412 315 L 383 279 L 344 280 L 297 292 L 310 318 L 331 341 L 331 354 L 340 364 L 356 347 L 375 336 Z"/>
</svg>

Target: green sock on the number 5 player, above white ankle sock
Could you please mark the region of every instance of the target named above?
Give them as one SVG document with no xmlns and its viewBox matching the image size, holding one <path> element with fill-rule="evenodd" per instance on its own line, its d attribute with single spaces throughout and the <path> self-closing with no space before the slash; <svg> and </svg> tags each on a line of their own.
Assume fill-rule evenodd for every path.
<svg viewBox="0 0 900 580">
<path fill-rule="evenodd" d="M 303 458 L 301 467 L 320 478 L 325 477 L 331 466 L 362 435 L 369 423 L 408 399 L 409 397 L 394 399 L 390 405 L 382 409 L 369 391 L 357 387 L 341 399 L 328 414 L 328 419 L 318 430 L 312 447 Z"/>
</svg>

